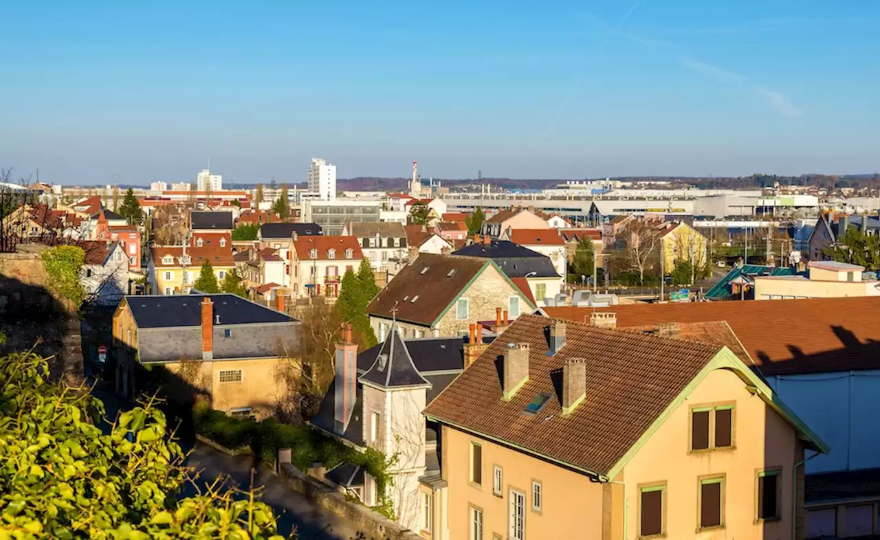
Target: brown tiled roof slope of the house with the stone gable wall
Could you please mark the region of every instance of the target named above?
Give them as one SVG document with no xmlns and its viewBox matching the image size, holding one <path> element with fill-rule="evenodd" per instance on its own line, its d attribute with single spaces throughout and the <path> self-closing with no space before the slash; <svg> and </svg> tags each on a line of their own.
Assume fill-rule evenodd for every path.
<svg viewBox="0 0 880 540">
<path fill-rule="evenodd" d="M 367 306 L 367 315 L 392 318 L 396 304 L 397 319 L 432 325 L 489 264 L 489 259 L 477 257 L 422 253 L 379 291 Z"/>
</svg>

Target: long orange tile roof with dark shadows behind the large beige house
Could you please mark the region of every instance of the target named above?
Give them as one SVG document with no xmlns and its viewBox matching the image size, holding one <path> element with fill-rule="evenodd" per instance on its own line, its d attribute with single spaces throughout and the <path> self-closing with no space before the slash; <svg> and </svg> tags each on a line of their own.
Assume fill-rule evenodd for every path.
<svg viewBox="0 0 880 540">
<path fill-rule="evenodd" d="M 589 320 L 593 308 L 544 309 Z M 880 296 L 618 305 L 618 327 L 726 321 L 765 376 L 880 369 Z M 584 318 L 586 317 L 586 319 Z"/>
</svg>

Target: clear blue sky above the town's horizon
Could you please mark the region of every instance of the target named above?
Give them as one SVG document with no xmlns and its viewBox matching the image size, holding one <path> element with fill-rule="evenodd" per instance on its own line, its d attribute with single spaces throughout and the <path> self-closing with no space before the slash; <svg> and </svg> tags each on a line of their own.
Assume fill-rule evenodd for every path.
<svg viewBox="0 0 880 540">
<path fill-rule="evenodd" d="M 880 169 L 880 2 L 0 6 L 0 167 L 62 183 Z"/>
</svg>

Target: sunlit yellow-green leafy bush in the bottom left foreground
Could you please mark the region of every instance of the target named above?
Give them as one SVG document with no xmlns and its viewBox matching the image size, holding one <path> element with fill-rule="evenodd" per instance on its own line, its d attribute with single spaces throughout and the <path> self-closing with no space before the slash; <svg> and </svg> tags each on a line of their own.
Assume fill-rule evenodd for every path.
<svg viewBox="0 0 880 540">
<path fill-rule="evenodd" d="M 49 382 L 40 356 L 4 356 L 0 373 L 0 538 L 282 539 L 253 493 L 180 498 L 196 478 L 153 400 L 103 434 L 103 404 Z"/>
</svg>

